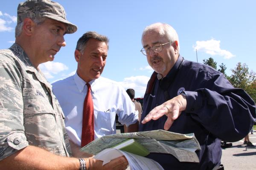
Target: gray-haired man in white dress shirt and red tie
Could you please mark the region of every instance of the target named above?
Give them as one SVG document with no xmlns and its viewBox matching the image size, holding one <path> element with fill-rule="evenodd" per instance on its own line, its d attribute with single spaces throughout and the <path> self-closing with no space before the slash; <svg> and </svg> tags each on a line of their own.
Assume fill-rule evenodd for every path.
<svg viewBox="0 0 256 170">
<path fill-rule="evenodd" d="M 65 125 L 72 152 L 81 147 L 84 98 L 89 83 L 94 109 L 94 139 L 115 134 L 118 121 L 125 125 L 125 132 L 138 130 L 138 112 L 133 102 L 117 82 L 100 75 L 108 55 L 108 38 L 88 31 L 79 38 L 75 51 L 78 63 L 76 74 L 52 83 L 52 89 L 65 115 Z"/>
</svg>

